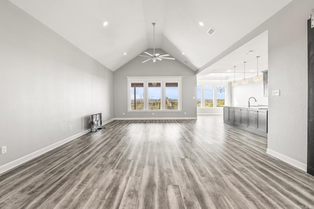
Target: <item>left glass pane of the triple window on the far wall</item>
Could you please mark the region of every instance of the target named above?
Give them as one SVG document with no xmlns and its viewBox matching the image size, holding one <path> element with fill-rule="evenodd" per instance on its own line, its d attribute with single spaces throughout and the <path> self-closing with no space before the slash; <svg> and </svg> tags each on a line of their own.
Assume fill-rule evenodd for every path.
<svg viewBox="0 0 314 209">
<path fill-rule="evenodd" d="M 144 110 L 144 84 L 131 83 L 131 110 Z"/>
</svg>

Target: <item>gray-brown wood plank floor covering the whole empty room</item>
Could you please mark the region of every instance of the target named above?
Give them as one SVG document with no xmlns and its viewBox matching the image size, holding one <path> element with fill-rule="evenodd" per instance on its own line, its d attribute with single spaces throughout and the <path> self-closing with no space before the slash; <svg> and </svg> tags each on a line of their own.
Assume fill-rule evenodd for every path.
<svg viewBox="0 0 314 209">
<path fill-rule="evenodd" d="M 222 116 L 105 127 L 0 175 L 0 208 L 314 209 L 314 177 Z"/>
</svg>

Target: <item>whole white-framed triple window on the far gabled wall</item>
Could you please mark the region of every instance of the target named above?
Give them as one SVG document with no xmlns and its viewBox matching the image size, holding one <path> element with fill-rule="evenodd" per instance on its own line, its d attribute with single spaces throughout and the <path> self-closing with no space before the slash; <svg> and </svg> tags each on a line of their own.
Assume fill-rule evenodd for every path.
<svg viewBox="0 0 314 209">
<path fill-rule="evenodd" d="M 128 111 L 180 111 L 182 76 L 128 76 Z"/>
</svg>

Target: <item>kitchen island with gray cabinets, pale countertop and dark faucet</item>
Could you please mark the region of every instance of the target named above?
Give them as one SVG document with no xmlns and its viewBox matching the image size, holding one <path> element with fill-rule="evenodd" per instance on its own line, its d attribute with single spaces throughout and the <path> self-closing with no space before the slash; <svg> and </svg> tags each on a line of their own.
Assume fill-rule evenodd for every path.
<svg viewBox="0 0 314 209">
<path fill-rule="evenodd" d="M 267 137 L 267 106 L 224 106 L 224 123 Z"/>
</svg>

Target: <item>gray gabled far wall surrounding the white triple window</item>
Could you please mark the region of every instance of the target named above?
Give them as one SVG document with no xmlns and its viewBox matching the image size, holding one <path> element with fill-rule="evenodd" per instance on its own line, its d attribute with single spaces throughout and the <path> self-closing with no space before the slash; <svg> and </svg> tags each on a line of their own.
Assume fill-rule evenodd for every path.
<svg viewBox="0 0 314 209">
<path fill-rule="evenodd" d="M 146 50 L 153 53 L 153 49 Z M 156 53 L 166 54 L 161 49 Z M 153 63 L 143 62 L 145 59 L 137 56 L 129 63 L 114 71 L 114 116 L 115 118 L 163 118 L 163 117 L 196 117 L 196 76 L 194 71 L 177 60 L 162 60 Z M 183 76 L 182 77 L 182 112 L 128 112 L 128 84 L 126 76 Z M 186 112 L 186 115 L 184 115 Z M 123 115 L 125 113 L 125 115 Z"/>
</svg>

